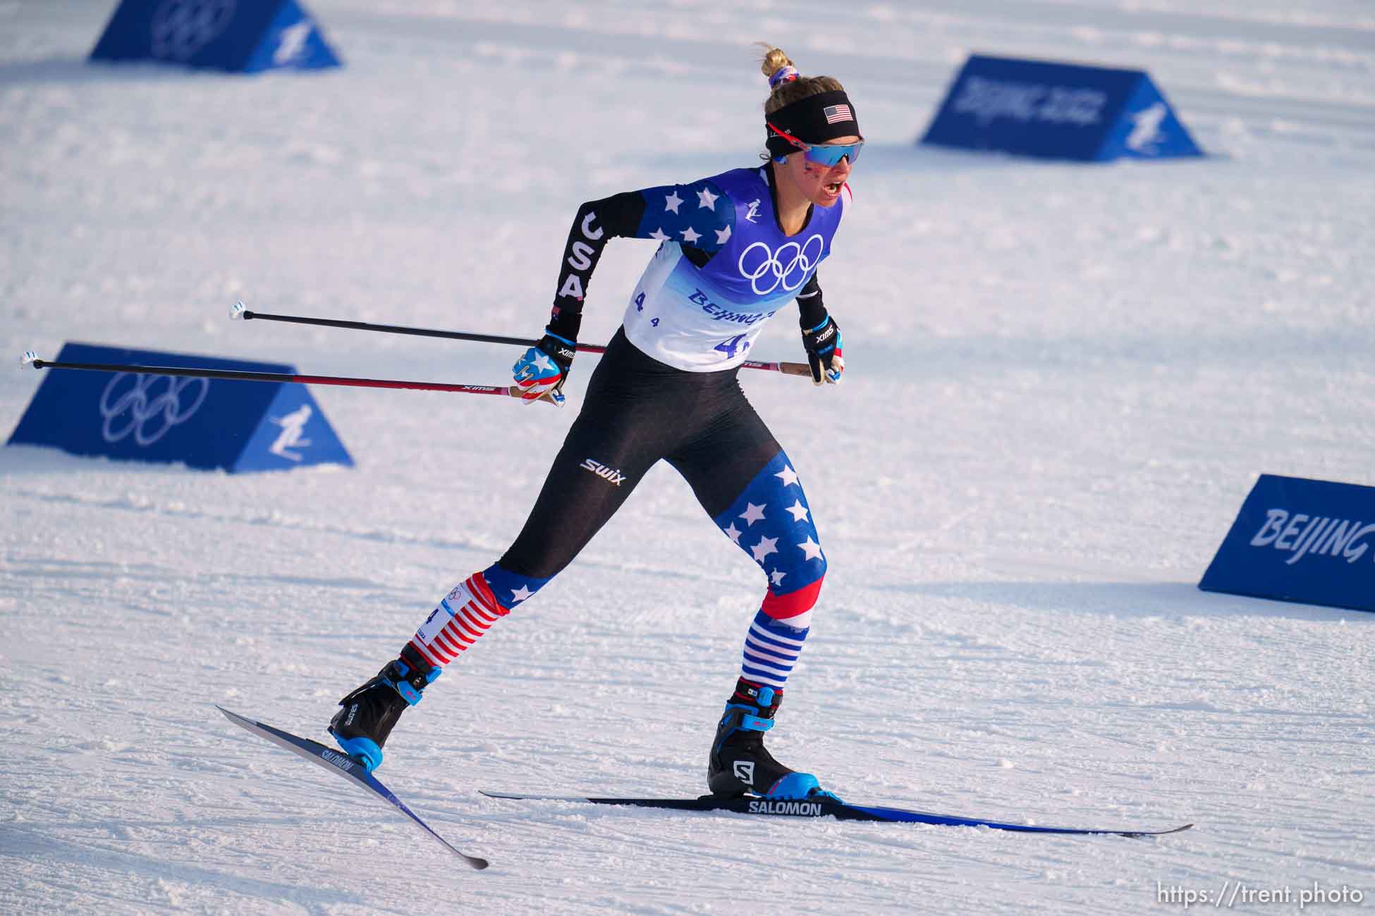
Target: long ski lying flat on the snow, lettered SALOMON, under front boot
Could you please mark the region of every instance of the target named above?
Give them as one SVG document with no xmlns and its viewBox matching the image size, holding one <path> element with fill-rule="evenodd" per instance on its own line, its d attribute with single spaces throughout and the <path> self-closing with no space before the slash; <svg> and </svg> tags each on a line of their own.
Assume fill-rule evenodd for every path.
<svg viewBox="0 0 1375 916">
<path fill-rule="evenodd" d="M 932 814 L 912 812 L 902 808 L 880 808 L 876 805 L 847 805 L 835 799 L 784 801 L 744 795 L 723 798 L 703 795 L 701 798 L 591 798 L 583 795 L 520 795 L 514 792 L 488 792 L 490 798 L 506 798 L 525 802 L 587 802 L 591 805 L 634 805 L 637 808 L 660 808 L 676 812 L 734 812 L 737 814 L 766 814 L 773 817 L 835 817 L 840 821 L 883 821 L 891 824 L 938 824 L 942 827 L 987 827 L 990 829 L 1018 831 L 1022 834 L 1108 834 L 1114 836 L 1163 836 L 1178 834 L 1194 824 L 1172 829 L 1104 829 L 1096 827 L 1037 827 L 1033 824 L 1012 824 L 983 817 L 956 817 L 954 814 Z"/>
</svg>

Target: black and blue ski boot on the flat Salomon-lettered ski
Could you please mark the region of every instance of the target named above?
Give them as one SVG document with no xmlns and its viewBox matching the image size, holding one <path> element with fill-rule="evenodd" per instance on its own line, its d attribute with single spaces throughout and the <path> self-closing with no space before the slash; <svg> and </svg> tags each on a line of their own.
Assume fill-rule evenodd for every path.
<svg viewBox="0 0 1375 916">
<path fill-rule="evenodd" d="M 773 728 L 782 694 L 740 678 L 726 711 L 716 725 L 707 761 L 707 787 L 712 795 L 764 798 L 832 798 L 811 773 L 788 769 L 764 747 L 764 732 Z"/>
</svg>

